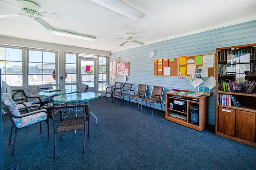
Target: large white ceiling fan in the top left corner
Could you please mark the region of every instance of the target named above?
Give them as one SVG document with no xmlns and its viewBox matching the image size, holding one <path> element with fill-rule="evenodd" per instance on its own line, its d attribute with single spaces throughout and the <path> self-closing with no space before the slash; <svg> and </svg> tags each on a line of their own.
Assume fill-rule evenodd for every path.
<svg viewBox="0 0 256 170">
<path fill-rule="evenodd" d="M 4 2 L 2 0 L 0 0 L 0 1 Z M 19 0 L 18 1 L 19 7 L 9 4 L 8 2 L 4 2 L 4 3 L 6 3 L 14 8 L 17 8 L 18 10 L 21 10 L 23 13 L 22 14 L 4 14 L 4 15 L 0 15 L 0 18 L 8 18 L 8 17 L 22 16 L 22 15 L 27 16 L 28 18 L 33 18 L 34 20 L 39 22 L 47 30 L 54 29 L 54 27 L 51 26 L 48 22 L 46 22 L 45 20 L 43 20 L 40 17 L 47 17 L 47 18 L 54 18 L 54 19 L 62 20 L 62 18 L 60 17 L 59 14 L 48 13 L 48 12 L 40 12 L 39 13 L 39 10 L 41 8 L 38 4 L 35 4 L 34 2 L 30 2 L 30 1 L 26 1 L 26 0 Z"/>
</svg>

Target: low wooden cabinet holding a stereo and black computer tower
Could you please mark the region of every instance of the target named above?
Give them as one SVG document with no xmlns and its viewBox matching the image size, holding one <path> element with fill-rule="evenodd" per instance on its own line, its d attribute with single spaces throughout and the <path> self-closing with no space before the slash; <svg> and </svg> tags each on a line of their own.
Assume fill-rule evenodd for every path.
<svg viewBox="0 0 256 170">
<path fill-rule="evenodd" d="M 168 92 L 165 94 L 166 120 L 198 131 L 202 131 L 206 127 L 208 123 L 208 96 L 191 97 Z"/>
</svg>

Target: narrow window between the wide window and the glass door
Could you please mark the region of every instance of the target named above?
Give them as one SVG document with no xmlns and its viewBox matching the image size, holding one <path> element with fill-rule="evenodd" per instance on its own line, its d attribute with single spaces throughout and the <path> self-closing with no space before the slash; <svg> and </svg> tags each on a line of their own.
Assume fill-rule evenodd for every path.
<svg viewBox="0 0 256 170">
<path fill-rule="evenodd" d="M 65 53 L 65 83 L 76 83 L 76 54 Z"/>
</svg>

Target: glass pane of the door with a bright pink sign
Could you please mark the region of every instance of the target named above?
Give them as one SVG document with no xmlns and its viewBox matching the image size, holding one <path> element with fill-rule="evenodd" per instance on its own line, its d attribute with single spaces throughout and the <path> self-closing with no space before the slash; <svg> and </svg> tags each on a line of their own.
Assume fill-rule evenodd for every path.
<svg viewBox="0 0 256 170">
<path fill-rule="evenodd" d="M 89 85 L 87 92 L 98 92 L 96 58 L 79 57 L 80 82 Z"/>
</svg>

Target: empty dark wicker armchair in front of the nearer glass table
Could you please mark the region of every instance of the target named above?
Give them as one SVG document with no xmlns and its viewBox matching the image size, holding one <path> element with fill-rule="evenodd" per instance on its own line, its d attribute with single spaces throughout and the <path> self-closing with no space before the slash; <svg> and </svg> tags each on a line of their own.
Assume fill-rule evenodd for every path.
<svg viewBox="0 0 256 170">
<path fill-rule="evenodd" d="M 84 149 L 86 128 L 85 122 L 88 121 L 89 136 L 89 118 L 90 108 L 88 105 L 72 105 L 72 106 L 56 106 L 46 107 L 47 113 L 51 115 L 54 126 L 54 159 L 56 159 L 56 133 L 60 132 L 60 140 L 62 140 L 62 132 L 71 130 L 84 130 Z"/>
</svg>

